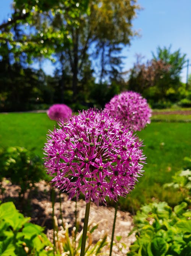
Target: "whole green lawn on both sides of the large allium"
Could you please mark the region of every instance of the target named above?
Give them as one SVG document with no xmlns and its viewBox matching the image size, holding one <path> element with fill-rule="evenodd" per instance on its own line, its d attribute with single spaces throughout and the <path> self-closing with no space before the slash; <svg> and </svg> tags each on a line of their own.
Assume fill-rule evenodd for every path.
<svg viewBox="0 0 191 256">
<path fill-rule="evenodd" d="M 166 120 L 171 115 L 165 115 Z M 170 182 L 172 175 L 185 166 L 184 157 L 191 154 L 191 122 L 155 122 L 138 132 L 144 140 L 144 154 L 147 165 L 144 177 L 126 199 L 120 199 L 124 210 L 137 210 L 142 203 L 152 199 L 166 200 L 173 205 L 181 195 L 172 190 L 164 190 L 162 185 Z M 154 117 L 153 117 L 154 118 Z M 170 117 L 171 118 L 171 117 Z M 53 130 L 55 121 L 46 113 L 8 113 L 0 114 L 0 147 L 23 146 L 34 149 L 43 157 L 42 148 L 48 130 Z"/>
</svg>

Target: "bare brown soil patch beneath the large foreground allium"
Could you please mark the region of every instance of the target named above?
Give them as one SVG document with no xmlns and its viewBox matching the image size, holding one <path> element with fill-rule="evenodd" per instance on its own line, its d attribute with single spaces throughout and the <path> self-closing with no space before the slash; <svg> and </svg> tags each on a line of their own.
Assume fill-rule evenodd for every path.
<svg viewBox="0 0 191 256">
<path fill-rule="evenodd" d="M 13 201 L 16 208 L 27 217 L 31 217 L 31 222 L 40 226 L 45 227 L 45 233 L 47 234 L 50 241 L 53 242 L 53 225 L 52 225 L 52 201 L 51 201 L 51 187 L 45 181 L 36 183 L 35 189 L 27 195 L 28 203 L 26 201 L 19 202 L 18 191 L 19 186 L 12 185 L 11 182 L 5 180 L 3 181 L 3 187 L 5 188 L 3 202 Z M 55 216 L 58 220 L 58 226 L 61 226 L 62 220 L 60 217 L 60 197 L 58 190 L 55 190 L 56 200 L 55 200 Z M 0 197 L 2 200 L 2 197 Z M 68 223 L 71 231 L 75 222 L 75 209 L 76 202 L 68 200 L 67 194 L 61 194 L 61 208 L 62 208 L 62 218 L 64 223 Z M 80 222 L 79 232 L 83 229 L 83 220 L 85 214 L 86 203 L 83 200 L 79 200 L 77 203 L 77 216 Z M 104 236 L 105 233 L 108 235 L 108 242 L 111 239 L 114 208 L 95 205 L 91 203 L 89 222 L 99 223 L 98 228 L 94 231 L 92 236 L 92 243 L 96 243 L 100 238 Z M 118 210 L 117 221 L 115 227 L 114 240 L 116 236 L 121 236 L 120 242 L 113 245 L 113 255 L 121 256 L 126 255 L 129 251 L 129 246 L 133 241 L 136 240 L 134 234 L 128 237 L 129 232 L 133 228 L 133 219 L 128 212 L 123 212 Z M 126 245 L 126 248 L 122 246 L 122 243 Z M 120 248 L 122 248 L 120 250 Z M 109 246 L 104 247 L 104 254 L 109 255 Z"/>
</svg>

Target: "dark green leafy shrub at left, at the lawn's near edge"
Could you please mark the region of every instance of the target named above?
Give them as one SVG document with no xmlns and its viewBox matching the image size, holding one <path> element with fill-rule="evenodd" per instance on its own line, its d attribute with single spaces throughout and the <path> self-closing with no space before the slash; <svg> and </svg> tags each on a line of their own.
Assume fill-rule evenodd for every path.
<svg viewBox="0 0 191 256">
<path fill-rule="evenodd" d="M 21 147 L 8 147 L 3 156 L 3 176 L 21 187 L 19 195 L 34 187 L 34 183 L 45 178 L 42 160 L 32 151 Z"/>
</svg>

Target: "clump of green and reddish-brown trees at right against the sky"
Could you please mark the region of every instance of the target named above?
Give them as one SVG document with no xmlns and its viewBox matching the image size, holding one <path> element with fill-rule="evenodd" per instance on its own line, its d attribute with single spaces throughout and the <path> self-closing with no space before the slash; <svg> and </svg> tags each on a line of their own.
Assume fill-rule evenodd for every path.
<svg viewBox="0 0 191 256">
<path fill-rule="evenodd" d="M 185 64 L 186 54 L 180 49 L 171 53 L 169 48 L 157 48 L 157 55 L 153 59 L 142 63 L 140 56 L 130 70 L 128 87 L 140 92 L 144 97 L 151 97 L 157 101 L 178 100 L 180 73 Z"/>
</svg>

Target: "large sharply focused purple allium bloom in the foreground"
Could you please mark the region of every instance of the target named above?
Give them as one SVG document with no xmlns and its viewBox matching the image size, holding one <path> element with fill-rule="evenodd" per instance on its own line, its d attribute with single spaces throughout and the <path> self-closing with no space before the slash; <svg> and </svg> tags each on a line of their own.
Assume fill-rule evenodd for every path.
<svg viewBox="0 0 191 256">
<path fill-rule="evenodd" d="M 69 194 L 99 204 L 134 188 L 146 157 L 132 130 L 107 112 L 89 109 L 50 131 L 44 147 L 47 173 Z"/>
</svg>

